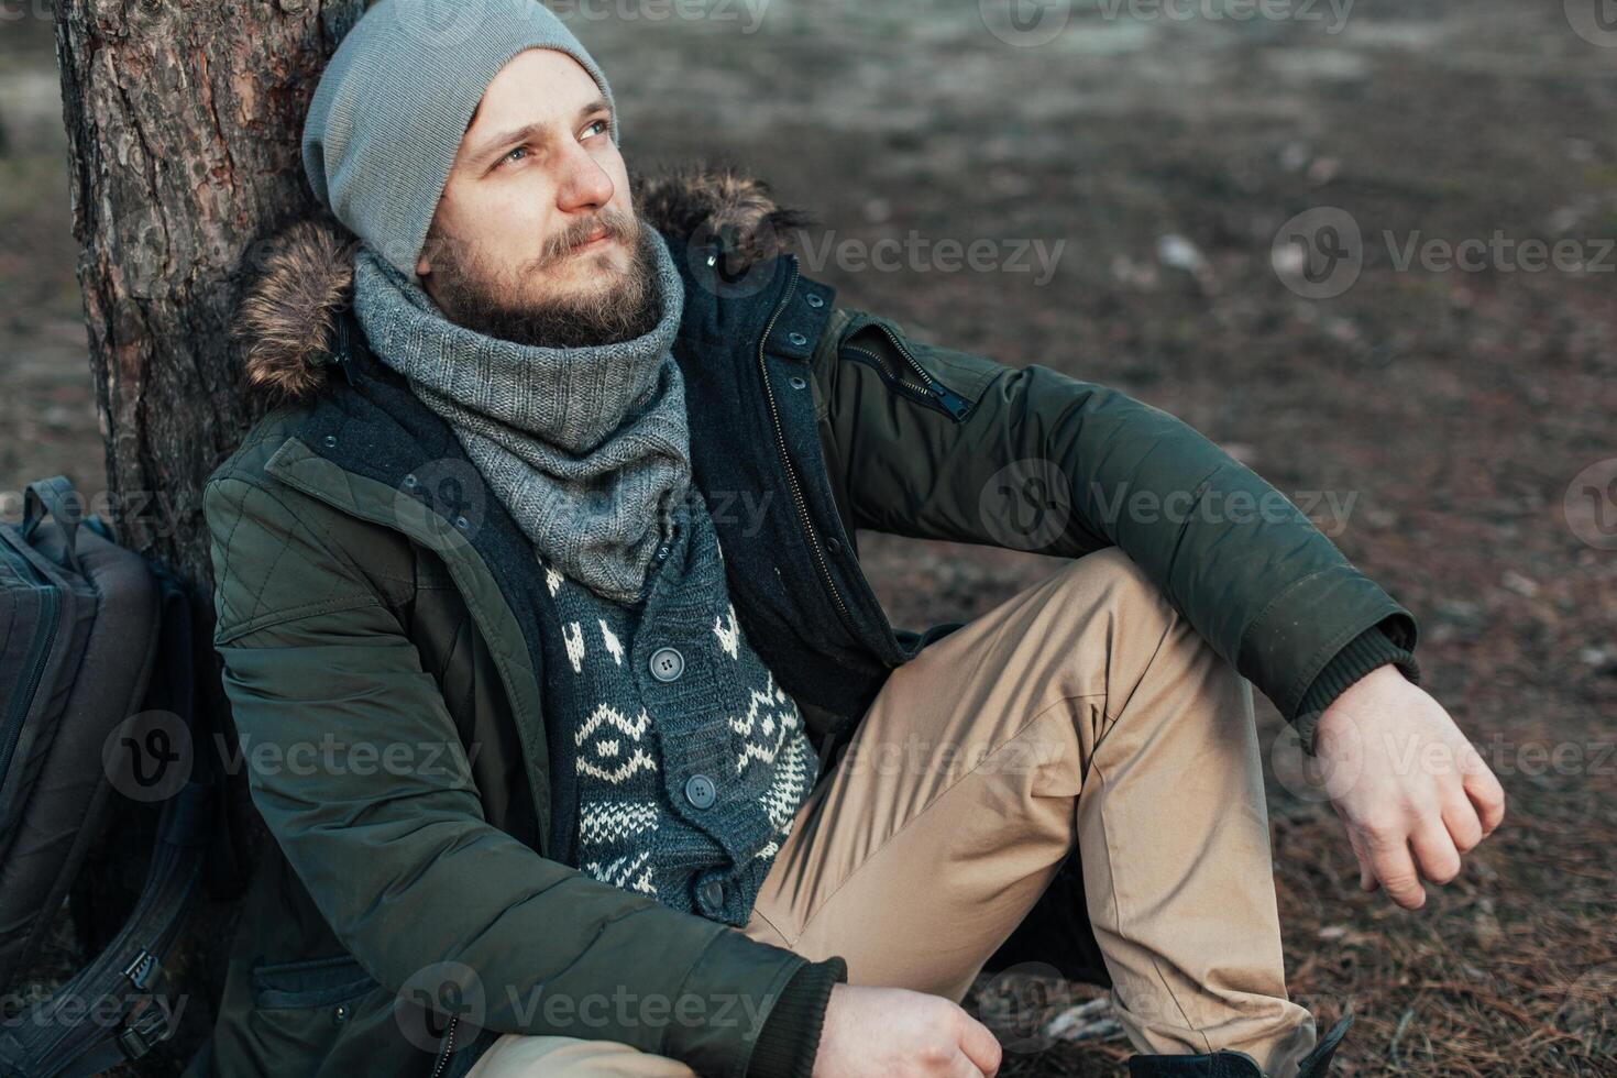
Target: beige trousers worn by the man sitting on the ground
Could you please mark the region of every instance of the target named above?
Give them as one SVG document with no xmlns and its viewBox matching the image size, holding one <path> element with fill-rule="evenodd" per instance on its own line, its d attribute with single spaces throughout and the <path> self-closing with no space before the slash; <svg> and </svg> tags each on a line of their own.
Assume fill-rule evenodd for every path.
<svg viewBox="0 0 1617 1078">
<path fill-rule="evenodd" d="M 1252 688 L 1116 548 L 893 671 L 815 787 L 745 934 L 854 984 L 960 1000 L 1074 849 L 1142 1052 L 1239 1049 L 1290 1078 Z M 474 1078 L 690 1075 L 606 1041 L 505 1034 Z"/>
</svg>

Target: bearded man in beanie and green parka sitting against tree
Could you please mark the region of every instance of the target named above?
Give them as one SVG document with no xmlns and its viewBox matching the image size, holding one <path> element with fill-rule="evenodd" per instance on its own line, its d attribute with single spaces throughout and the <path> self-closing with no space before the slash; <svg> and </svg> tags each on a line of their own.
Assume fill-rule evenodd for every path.
<svg viewBox="0 0 1617 1078">
<path fill-rule="evenodd" d="M 530 0 L 375 3 L 302 149 L 330 217 L 244 301 L 278 401 L 205 495 L 275 844 L 191 1073 L 993 1075 L 959 1000 L 1011 954 L 1109 984 L 1134 1075 L 1326 1073 L 1252 685 L 1400 905 L 1504 800 L 1305 516 L 838 304 L 757 181 L 632 189 Z M 1069 561 L 914 632 L 859 528 Z"/>
</svg>

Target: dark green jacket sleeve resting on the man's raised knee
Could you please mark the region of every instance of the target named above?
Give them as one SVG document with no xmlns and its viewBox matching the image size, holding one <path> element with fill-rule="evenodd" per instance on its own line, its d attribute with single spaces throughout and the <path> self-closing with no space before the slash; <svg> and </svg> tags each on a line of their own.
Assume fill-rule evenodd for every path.
<svg viewBox="0 0 1617 1078">
<path fill-rule="evenodd" d="M 857 309 L 833 312 L 813 368 L 849 528 L 1067 558 L 1119 546 L 1310 752 L 1318 711 L 1303 705 L 1334 697 L 1310 690 L 1340 692 L 1349 659 L 1415 646 L 1407 609 L 1161 409 L 1041 364 L 927 344 Z M 1413 674 L 1413 659 L 1402 667 Z"/>
</svg>

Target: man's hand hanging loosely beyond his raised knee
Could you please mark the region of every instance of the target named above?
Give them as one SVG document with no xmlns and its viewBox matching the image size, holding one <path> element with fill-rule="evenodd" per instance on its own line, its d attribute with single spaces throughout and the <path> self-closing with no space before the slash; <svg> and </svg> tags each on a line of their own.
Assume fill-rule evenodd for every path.
<svg viewBox="0 0 1617 1078">
<path fill-rule="evenodd" d="M 1460 855 L 1505 816 L 1504 787 L 1481 753 L 1394 666 L 1371 671 L 1326 708 L 1315 753 L 1358 855 L 1358 886 L 1379 884 L 1408 910 L 1426 903 L 1420 876 L 1436 884 L 1459 876 Z"/>
</svg>

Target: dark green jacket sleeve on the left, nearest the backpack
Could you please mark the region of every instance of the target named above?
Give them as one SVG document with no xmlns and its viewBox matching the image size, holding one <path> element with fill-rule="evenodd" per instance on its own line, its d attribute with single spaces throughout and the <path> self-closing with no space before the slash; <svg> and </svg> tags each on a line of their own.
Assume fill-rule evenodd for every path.
<svg viewBox="0 0 1617 1078">
<path fill-rule="evenodd" d="M 210 482 L 204 511 L 215 643 L 254 803 L 354 958 L 395 992 L 459 963 L 490 1030 L 747 1073 L 807 962 L 492 826 L 437 682 L 322 525 L 335 511 L 243 478 Z"/>
</svg>

